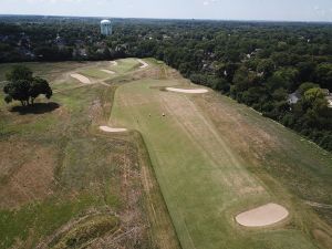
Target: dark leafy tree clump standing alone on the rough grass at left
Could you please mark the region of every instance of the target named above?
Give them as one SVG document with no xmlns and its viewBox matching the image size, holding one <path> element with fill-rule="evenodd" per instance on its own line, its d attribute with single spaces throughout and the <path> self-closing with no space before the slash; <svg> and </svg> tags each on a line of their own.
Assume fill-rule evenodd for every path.
<svg viewBox="0 0 332 249">
<path fill-rule="evenodd" d="M 30 69 L 19 65 L 15 66 L 8 75 L 8 83 L 3 87 L 6 93 L 4 101 L 20 101 L 22 106 L 33 105 L 34 100 L 43 94 L 51 98 L 52 89 L 49 82 L 41 77 L 33 77 Z"/>
</svg>

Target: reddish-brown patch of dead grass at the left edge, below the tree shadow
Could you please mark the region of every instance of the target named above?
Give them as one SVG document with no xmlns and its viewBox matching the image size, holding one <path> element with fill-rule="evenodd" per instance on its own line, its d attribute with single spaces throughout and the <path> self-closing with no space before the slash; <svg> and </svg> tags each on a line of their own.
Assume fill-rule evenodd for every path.
<svg viewBox="0 0 332 249">
<path fill-rule="evenodd" d="M 0 207 L 18 207 L 53 194 L 56 155 L 52 146 L 7 142 L 3 148 L 0 167 L 7 174 L 2 175 Z"/>
</svg>

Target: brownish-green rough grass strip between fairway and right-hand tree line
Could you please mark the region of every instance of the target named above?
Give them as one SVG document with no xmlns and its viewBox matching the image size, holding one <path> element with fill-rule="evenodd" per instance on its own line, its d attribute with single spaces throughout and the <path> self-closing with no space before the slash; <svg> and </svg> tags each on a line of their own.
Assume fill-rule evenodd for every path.
<svg viewBox="0 0 332 249">
<path fill-rule="evenodd" d="M 216 97 L 216 96 L 214 96 Z M 220 98 L 220 96 L 216 97 Z M 332 154 L 318 147 L 282 125 L 262 118 L 257 112 L 248 110 L 232 100 L 221 97 L 224 107 L 236 110 L 245 117 L 246 123 L 257 129 L 264 131 L 276 141 L 273 146 L 266 149 L 255 147 L 252 139 L 248 139 L 252 154 L 261 154 L 262 167 L 252 166 L 250 170 L 259 174 L 263 168 L 278 178 L 287 188 L 303 200 L 332 204 Z M 207 101 L 211 101 L 208 98 Z M 217 118 L 215 120 L 218 125 Z M 245 138 L 243 138 L 245 139 Z M 247 159 L 250 155 L 242 153 Z M 329 210 L 325 210 L 329 212 Z M 330 210 L 331 211 L 331 210 Z M 328 221 L 331 222 L 332 216 Z"/>
</svg>

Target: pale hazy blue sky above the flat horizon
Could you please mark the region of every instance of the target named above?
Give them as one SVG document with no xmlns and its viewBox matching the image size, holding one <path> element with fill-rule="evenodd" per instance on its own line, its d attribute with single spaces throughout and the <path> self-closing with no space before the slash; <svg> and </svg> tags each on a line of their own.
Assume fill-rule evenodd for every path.
<svg viewBox="0 0 332 249">
<path fill-rule="evenodd" d="M 332 21 L 332 0 L 0 0 L 0 13 Z"/>
</svg>

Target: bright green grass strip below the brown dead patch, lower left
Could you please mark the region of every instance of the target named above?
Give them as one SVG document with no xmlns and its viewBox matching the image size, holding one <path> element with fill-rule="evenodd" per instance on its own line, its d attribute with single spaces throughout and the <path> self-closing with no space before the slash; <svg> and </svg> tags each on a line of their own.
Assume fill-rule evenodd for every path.
<svg viewBox="0 0 332 249">
<path fill-rule="evenodd" d="M 9 248 L 17 240 L 24 241 L 31 232 L 50 236 L 82 211 L 102 204 L 103 200 L 100 197 L 87 194 L 74 199 L 59 200 L 54 197 L 43 203 L 27 205 L 19 210 L 0 210 L 0 248 Z"/>
</svg>

